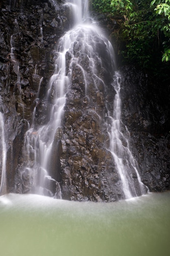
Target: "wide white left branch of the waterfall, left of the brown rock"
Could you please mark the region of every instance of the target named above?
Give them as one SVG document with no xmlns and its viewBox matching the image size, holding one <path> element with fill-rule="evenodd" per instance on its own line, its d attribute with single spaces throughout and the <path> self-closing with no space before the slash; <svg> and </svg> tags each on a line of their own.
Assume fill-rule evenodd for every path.
<svg viewBox="0 0 170 256">
<path fill-rule="evenodd" d="M 75 3 L 74 3 L 75 2 Z M 68 2 L 73 7 L 73 12 L 79 13 L 75 24 L 82 21 L 82 2 L 73 1 Z M 86 11 L 86 6 L 85 11 Z M 72 37 L 72 38 L 70 38 Z M 34 118 L 31 128 L 26 132 L 24 141 L 24 158 L 26 166 L 21 172 L 21 176 L 29 175 L 30 183 L 32 183 L 31 192 L 53 195 L 55 198 L 61 198 L 60 186 L 58 182 L 49 176 L 49 168 L 51 164 L 51 155 L 53 150 L 53 141 L 57 129 L 61 126 L 63 109 L 66 102 L 66 93 L 69 87 L 69 74 L 66 75 L 66 59 L 65 55 L 69 48 L 73 48 L 73 43 L 77 33 L 70 31 L 62 37 L 58 43 L 56 51 L 55 71 L 49 81 L 49 88 L 46 93 L 46 101 L 53 101 L 50 103 L 49 122 L 39 128 L 35 127 Z M 53 94 L 53 96 L 52 96 Z M 36 99 L 38 102 L 38 98 Z M 35 117 L 36 106 L 33 116 Z M 60 129 L 59 129 L 60 130 Z M 57 187 L 56 191 L 51 192 L 47 183 L 52 181 Z"/>
</svg>

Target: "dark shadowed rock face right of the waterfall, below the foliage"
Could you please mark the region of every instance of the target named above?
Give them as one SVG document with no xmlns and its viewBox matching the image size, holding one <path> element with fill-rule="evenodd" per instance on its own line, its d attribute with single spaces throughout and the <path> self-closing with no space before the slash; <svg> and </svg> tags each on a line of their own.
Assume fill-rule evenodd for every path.
<svg viewBox="0 0 170 256">
<path fill-rule="evenodd" d="M 170 93 L 134 67 L 122 67 L 122 119 L 135 145 L 142 181 L 150 191 L 170 189 Z"/>
</svg>

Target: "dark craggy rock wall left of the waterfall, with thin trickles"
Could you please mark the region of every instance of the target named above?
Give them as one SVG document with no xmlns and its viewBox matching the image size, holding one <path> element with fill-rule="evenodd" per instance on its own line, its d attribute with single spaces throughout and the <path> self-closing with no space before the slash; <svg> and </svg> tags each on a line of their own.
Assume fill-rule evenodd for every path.
<svg viewBox="0 0 170 256">
<path fill-rule="evenodd" d="M 8 191 L 16 186 L 14 176 L 23 162 L 24 132 L 28 121 L 31 123 L 40 79 L 43 77 L 42 98 L 54 70 L 53 49 L 71 24 L 69 16 L 62 1 L 0 3 L 0 91 L 7 135 Z"/>
</svg>

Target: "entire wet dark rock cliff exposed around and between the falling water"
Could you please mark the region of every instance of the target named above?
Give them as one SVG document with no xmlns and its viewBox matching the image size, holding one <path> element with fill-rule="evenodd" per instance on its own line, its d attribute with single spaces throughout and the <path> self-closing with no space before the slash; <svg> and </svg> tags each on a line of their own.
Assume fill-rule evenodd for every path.
<svg viewBox="0 0 170 256">
<path fill-rule="evenodd" d="M 33 193 L 28 173 L 22 172 L 24 135 L 32 123 L 35 106 L 35 126 L 49 121 L 45 94 L 55 68 L 56 42 L 71 27 L 73 19 L 62 1 L 2 0 L 0 8 L 0 95 L 7 144 L 7 191 Z M 105 59 L 105 45 L 100 38 L 95 40 L 96 52 Z M 89 61 L 82 58 L 88 89 L 82 69 L 76 63 L 72 65 L 62 128 L 55 132 L 53 141 L 51 195 L 60 184 L 63 198 L 69 200 L 123 198 L 112 155 L 106 150 L 109 137 L 105 116 L 108 110 L 113 111 L 115 90 L 110 85 L 112 74 L 107 61 L 104 62 L 105 68 L 99 59 L 95 61 L 103 85 L 94 83 Z M 69 66 L 69 54 L 66 63 Z M 130 132 L 141 180 L 150 191 L 170 189 L 169 92 L 157 90 L 134 67 L 122 67 L 120 72 L 122 121 Z M 30 157 L 29 166 L 33 160 Z"/>
</svg>

